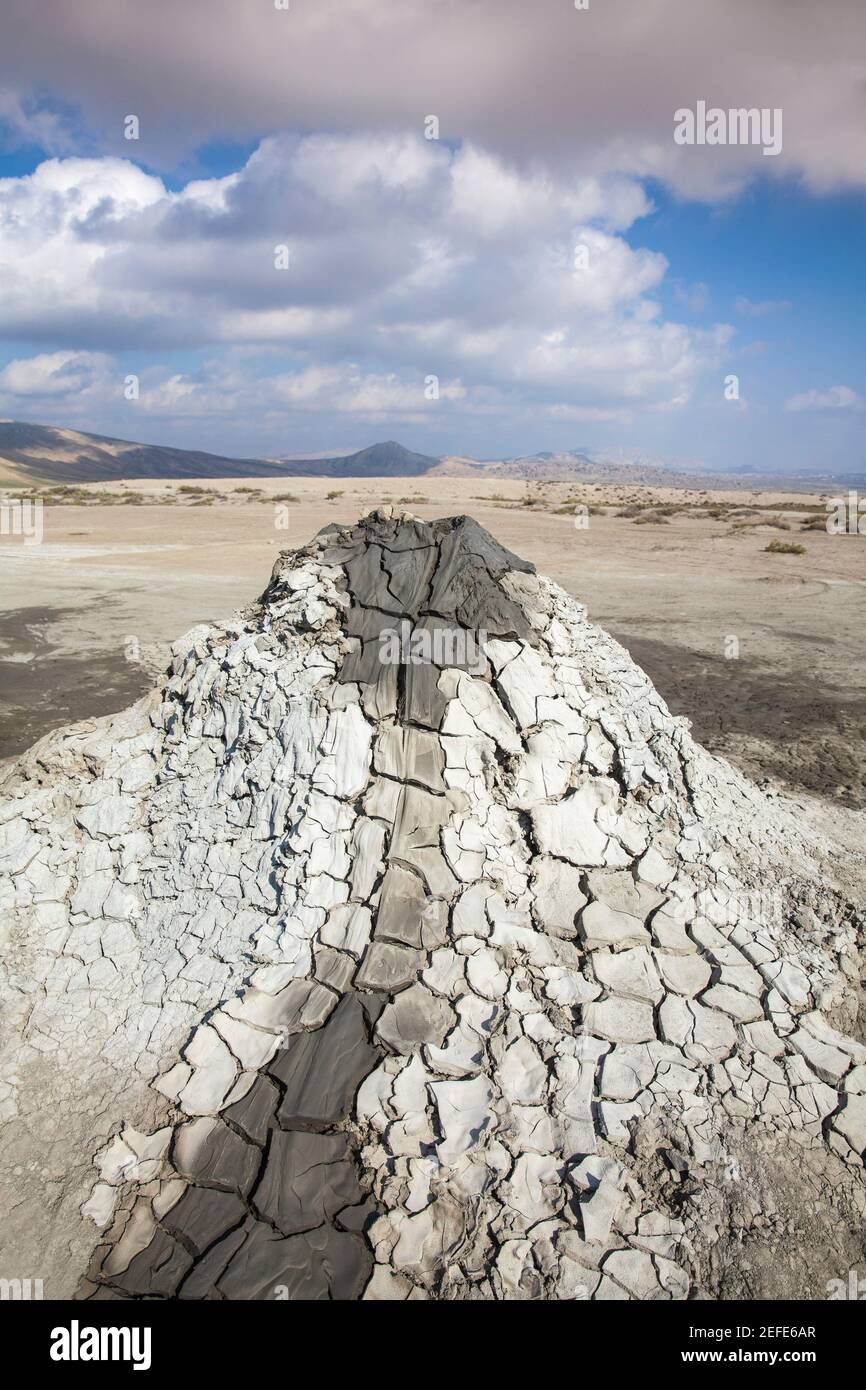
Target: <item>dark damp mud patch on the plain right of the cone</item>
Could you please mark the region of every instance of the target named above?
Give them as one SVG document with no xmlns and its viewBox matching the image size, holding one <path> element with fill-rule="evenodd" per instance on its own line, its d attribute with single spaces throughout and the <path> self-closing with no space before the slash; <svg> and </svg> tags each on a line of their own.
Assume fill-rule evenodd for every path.
<svg viewBox="0 0 866 1390">
<path fill-rule="evenodd" d="M 866 696 L 753 660 L 726 660 L 613 631 L 673 714 L 753 781 L 771 778 L 838 805 L 866 806 Z"/>
</svg>

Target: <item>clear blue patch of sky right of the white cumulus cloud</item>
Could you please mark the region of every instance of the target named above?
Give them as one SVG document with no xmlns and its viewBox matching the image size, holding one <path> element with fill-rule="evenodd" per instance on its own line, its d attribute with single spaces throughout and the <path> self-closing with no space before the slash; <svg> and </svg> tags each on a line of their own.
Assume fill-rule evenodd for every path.
<svg viewBox="0 0 866 1390">
<path fill-rule="evenodd" d="M 751 466 L 866 467 L 859 409 L 785 410 L 785 400 L 840 382 L 866 398 L 866 196 L 812 196 L 795 179 L 760 179 L 719 206 L 657 185 L 652 197 L 656 210 L 628 240 L 667 257 L 664 313 L 691 324 L 723 317 L 737 329 L 724 374 L 738 374 L 748 409 L 726 410 L 716 374 L 705 379 L 692 410 L 706 411 L 719 438 L 712 455 L 703 442 L 702 457 L 719 467 L 734 452 Z M 646 435 L 646 448 L 676 450 L 678 423 L 666 427 L 657 445 Z"/>
</svg>

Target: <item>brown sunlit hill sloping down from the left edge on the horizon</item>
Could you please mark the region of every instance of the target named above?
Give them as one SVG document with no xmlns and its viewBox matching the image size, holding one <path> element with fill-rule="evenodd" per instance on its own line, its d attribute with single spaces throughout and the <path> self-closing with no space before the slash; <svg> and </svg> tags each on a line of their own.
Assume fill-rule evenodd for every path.
<svg viewBox="0 0 866 1390">
<path fill-rule="evenodd" d="M 3 468 L 3 464 L 7 468 Z M 8 467 L 11 466 L 11 467 Z M 227 459 L 197 449 L 132 443 L 108 435 L 0 420 L 0 471 L 29 482 L 111 478 L 260 478 L 282 468 L 265 459 Z"/>
</svg>

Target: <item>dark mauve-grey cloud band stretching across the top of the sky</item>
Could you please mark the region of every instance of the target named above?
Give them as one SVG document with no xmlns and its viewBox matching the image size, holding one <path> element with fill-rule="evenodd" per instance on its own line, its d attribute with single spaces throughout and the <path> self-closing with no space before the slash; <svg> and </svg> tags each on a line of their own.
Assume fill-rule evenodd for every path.
<svg viewBox="0 0 866 1390">
<path fill-rule="evenodd" d="M 50 88 L 103 150 L 139 117 L 149 163 L 277 129 L 421 132 L 509 160 L 726 196 L 755 172 L 862 188 L 862 0 L 6 0 L 11 99 Z M 612 79 L 613 75 L 613 79 Z M 680 147 L 673 113 L 784 111 L 784 149 Z M 771 165 L 771 168 L 767 168 Z M 507 186 L 491 189 L 495 215 Z"/>
</svg>

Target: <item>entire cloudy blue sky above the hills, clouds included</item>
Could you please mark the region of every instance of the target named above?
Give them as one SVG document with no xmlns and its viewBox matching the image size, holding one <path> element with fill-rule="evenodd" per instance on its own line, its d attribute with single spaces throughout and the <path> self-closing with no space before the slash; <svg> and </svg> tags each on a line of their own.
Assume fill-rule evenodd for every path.
<svg viewBox="0 0 866 1390">
<path fill-rule="evenodd" d="M 863 7 L 831 0 L 848 42 L 716 0 L 11 10 L 0 414 L 236 455 L 866 467 Z M 781 154 L 678 149 L 703 95 L 781 110 Z"/>
</svg>

